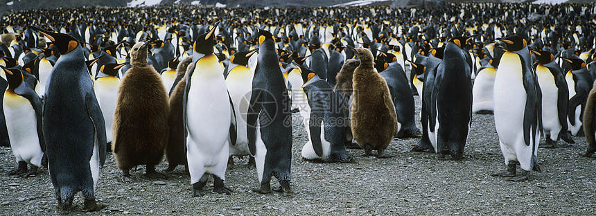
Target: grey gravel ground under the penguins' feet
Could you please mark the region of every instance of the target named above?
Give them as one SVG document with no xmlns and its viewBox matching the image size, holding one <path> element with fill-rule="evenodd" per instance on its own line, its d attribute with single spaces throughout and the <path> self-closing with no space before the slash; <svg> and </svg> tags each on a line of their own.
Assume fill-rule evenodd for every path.
<svg viewBox="0 0 596 216">
<path fill-rule="evenodd" d="M 419 98 L 416 96 L 417 107 Z M 392 158 L 362 156 L 349 150 L 358 163 L 313 163 L 301 159 L 306 131 L 294 114 L 292 188 L 295 194 L 251 192 L 258 186 L 247 159 L 236 159 L 227 170 L 232 195 L 211 192 L 192 197 L 190 177 L 179 166 L 168 179 L 147 179 L 144 166 L 131 172 L 133 183 L 122 183 L 111 154 L 100 170 L 96 213 L 80 213 L 82 197 L 71 215 L 595 215 L 596 160 L 579 156 L 586 141 L 559 149 L 538 150 L 543 172 L 527 182 L 491 177 L 505 170 L 492 115 L 473 115 L 471 134 L 462 162 L 443 161 L 437 154 L 410 152 L 419 138 L 393 141 Z M 420 127 L 420 125 L 419 125 Z M 60 215 L 48 170 L 38 177 L 8 176 L 15 167 L 10 147 L 0 147 L 0 215 Z M 164 172 L 166 162 L 157 166 Z M 519 173 L 518 169 L 518 173 Z M 272 187 L 279 185 L 272 181 Z M 213 181 L 207 184 L 211 190 Z"/>
</svg>

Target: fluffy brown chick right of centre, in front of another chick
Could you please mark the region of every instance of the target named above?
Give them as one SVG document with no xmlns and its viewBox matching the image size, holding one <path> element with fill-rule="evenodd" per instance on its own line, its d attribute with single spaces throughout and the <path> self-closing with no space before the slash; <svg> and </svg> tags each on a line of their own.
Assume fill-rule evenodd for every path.
<svg viewBox="0 0 596 216">
<path fill-rule="evenodd" d="M 374 70 L 374 58 L 367 48 L 352 48 L 360 59 L 353 75 L 351 129 L 356 143 L 370 156 L 387 157 L 385 149 L 397 135 L 397 116 L 385 79 Z"/>
</svg>

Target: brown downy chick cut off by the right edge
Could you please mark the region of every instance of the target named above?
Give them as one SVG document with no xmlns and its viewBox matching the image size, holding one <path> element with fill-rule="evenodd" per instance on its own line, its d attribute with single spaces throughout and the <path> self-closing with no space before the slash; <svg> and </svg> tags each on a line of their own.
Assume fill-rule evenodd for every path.
<svg viewBox="0 0 596 216">
<path fill-rule="evenodd" d="M 586 136 L 586 142 L 588 142 L 588 150 L 584 153 L 584 156 L 590 156 L 596 152 L 596 123 L 594 122 L 594 112 L 596 111 L 596 81 L 593 84 L 588 100 L 586 101 L 586 109 L 584 109 L 584 136 Z"/>
</svg>

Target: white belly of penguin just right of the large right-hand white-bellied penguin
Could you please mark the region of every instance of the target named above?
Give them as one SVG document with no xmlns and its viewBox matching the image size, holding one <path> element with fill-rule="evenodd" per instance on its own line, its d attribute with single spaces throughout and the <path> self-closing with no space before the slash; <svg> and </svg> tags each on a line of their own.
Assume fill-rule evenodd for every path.
<svg viewBox="0 0 596 216">
<path fill-rule="evenodd" d="M 550 135 L 552 141 L 559 138 L 561 123 L 559 123 L 558 96 L 559 89 L 556 88 L 552 73 L 545 67 L 536 66 L 536 75 L 542 91 L 542 125 L 544 136 Z"/>
</svg>

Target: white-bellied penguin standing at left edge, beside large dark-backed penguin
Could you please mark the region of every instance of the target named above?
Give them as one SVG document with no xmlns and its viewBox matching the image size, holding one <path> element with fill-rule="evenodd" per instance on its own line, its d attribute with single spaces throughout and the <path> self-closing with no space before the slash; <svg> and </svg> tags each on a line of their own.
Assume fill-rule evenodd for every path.
<svg viewBox="0 0 596 216">
<path fill-rule="evenodd" d="M 46 144 L 42 129 L 42 101 L 33 87 L 24 82 L 24 74 L 19 69 L 0 67 L 8 79 L 8 89 L 3 98 L 6 128 L 12 154 L 19 163 L 18 168 L 10 170 L 8 175 L 34 177 L 37 168 L 42 164 L 47 166 L 47 160 L 44 160 Z M 27 170 L 27 164 L 30 170 Z"/>
</svg>

